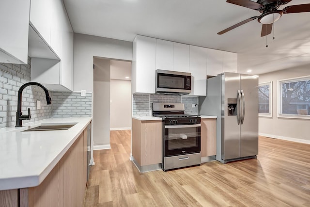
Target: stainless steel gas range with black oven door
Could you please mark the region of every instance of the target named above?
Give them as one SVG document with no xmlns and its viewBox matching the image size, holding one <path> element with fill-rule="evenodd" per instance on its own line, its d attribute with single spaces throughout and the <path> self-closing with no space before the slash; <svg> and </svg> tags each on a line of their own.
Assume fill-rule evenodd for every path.
<svg viewBox="0 0 310 207">
<path fill-rule="evenodd" d="M 183 103 L 153 103 L 152 114 L 162 118 L 162 169 L 201 164 L 201 117 L 184 114 Z"/>
</svg>

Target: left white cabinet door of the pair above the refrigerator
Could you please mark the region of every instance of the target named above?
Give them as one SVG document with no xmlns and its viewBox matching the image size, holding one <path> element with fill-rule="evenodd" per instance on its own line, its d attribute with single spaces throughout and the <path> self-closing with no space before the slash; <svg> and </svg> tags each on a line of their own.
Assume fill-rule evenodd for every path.
<svg viewBox="0 0 310 207">
<path fill-rule="evenodd" d="M 208 48 L 207 75 L 217 76 L 223 72 L 223 51 Z"/>
</svg>

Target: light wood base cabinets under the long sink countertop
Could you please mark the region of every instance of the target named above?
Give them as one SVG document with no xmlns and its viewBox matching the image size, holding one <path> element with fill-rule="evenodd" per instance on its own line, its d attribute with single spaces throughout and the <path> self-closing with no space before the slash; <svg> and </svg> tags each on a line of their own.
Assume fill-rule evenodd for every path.
<svg viewBox="0 0 310 207">
<path fill-rule="evenodd" d="M 87 183 L 86 160 L 87 128 L 39 186 L 0 191 L 0 206 L 82 207 Z"/>
</svg>

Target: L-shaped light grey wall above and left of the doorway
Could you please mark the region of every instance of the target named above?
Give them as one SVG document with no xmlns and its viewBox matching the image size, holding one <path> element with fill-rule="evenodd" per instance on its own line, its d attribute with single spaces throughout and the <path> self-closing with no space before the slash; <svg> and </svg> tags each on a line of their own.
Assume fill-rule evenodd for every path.
<svg viewBox="0 0 310 207">
<path fill-rule="evenodd" d="M 93 92 L 93 57 L 132 61 L 132 42 L 74 33 L 74 91 Z"/>
</svg>

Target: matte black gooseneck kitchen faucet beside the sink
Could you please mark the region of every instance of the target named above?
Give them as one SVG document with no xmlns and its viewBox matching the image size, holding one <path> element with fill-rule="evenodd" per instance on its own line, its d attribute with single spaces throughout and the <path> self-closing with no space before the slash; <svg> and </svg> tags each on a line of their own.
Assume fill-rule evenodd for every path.
<svg viewBox="0 0 310 207">
<path fill-rule="evenodd" d="M 28 108 L 28 115 L 22 115 L 23 112 L 21 112 L 21 98 L 22 98 L 22 93 L 23 90 L 30 85 L 37 85 L 40 86 L 46 95 L 47 98 L 47 104 L 51 104 L 52 103 L 52 99 L 49 97 L 47 88 L 42 85 L 41 83 L 38 82 L 28 82 L 25 83 L 24 85 L 20 86 L 19 90 L 18 90 L 18 95 L 17 95 L 17 112 L 16 112 L 16 125 L 15 127 L 22 127 L 22 120 L 30 120 L 31 119 L 31 115 L 30 115 L 30 108 Z"/>
</svg>

